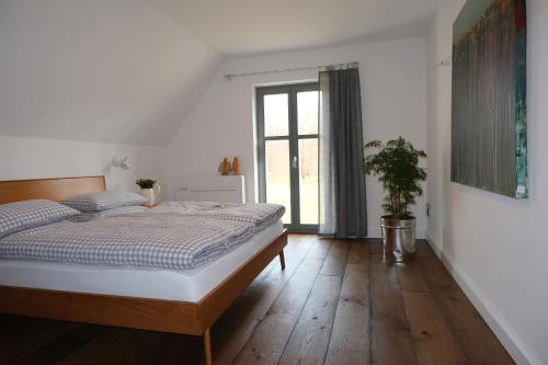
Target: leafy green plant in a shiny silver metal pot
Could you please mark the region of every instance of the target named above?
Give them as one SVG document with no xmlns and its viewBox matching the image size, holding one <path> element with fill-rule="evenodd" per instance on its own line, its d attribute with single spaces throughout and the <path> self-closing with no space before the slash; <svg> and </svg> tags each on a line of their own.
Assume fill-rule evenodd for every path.
<svg viewBox="0 0 548 365">
<path fill-rule="evenodd" d="M 419 162 L 426 153 L 402 137 L 386 145 L 373 140 L 365 148 L 377 152 L 364 158 L 364 172 L 378 176 L 388 193 L 383 204 L 387 215 L 380 217 L 384 256 L 389 259 L 391 252 L 396 262 L 411 260 L 415 252 L 415 217 L 410 207 L 422 195 L 421 182 L 426 180 L 426 170 Z"/>
</svg>

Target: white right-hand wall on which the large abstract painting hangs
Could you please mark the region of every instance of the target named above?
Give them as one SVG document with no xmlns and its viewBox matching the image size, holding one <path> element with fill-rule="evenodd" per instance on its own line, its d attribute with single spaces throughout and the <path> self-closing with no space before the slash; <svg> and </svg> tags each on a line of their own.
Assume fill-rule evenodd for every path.
<svg viewBox="0 0 548 365">
<path fill-rule="evenodd" d="M 464 0 L 444 0 L 430 31 L 429 238 L 514 360 L 548 364 L 548 1 L 528 0 L 528 199 L 449 182 L 452 26 Z"/>
</svg>

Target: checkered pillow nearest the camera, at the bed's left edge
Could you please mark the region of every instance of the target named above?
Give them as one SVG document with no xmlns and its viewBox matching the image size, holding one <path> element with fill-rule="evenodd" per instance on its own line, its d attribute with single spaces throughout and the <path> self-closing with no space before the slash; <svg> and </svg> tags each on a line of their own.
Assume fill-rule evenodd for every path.
<svg viewBox="0 0 548 365">
<path fill-rule="evenodd" d="M 79 214 L 61 204 L 33 199 L 0 205 L 0 237 Z"/>
</svg>

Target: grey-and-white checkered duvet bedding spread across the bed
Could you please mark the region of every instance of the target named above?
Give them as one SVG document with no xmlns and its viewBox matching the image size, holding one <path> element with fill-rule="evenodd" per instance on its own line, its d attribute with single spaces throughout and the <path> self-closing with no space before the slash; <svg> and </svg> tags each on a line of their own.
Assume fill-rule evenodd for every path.
<svg viewBox="0 0 548 365">
<path fill-rule="evenodd" d="M 0 258 L 184 271 L 226 254 L 248 240 L 270 217 L 228 219 L 150 209 L 88 223 L 61 221 L 5 236 Z M 264 209 L 260 209 L 264 210 Z M 206 212 L 204 209 L 204 212 Z M 247 212 L 243 209 L 242 212 Z M 261 225 L 256 225 L 260 221 Z"/>
</svg>

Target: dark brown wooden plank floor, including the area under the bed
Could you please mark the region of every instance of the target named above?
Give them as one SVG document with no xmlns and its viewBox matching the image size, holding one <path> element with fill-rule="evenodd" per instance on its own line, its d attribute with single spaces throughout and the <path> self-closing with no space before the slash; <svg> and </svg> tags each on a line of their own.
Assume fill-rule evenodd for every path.
<svg viewBox="0 0 548 365">
<path fill-rule="evenodd" d="M 425 242 L 290 236 L 212 331 L 215 364 L 513 364 Z M 199 338 L 0 315 L 0 364 L 203 364 Z"/>
</svg>

